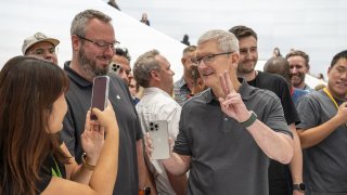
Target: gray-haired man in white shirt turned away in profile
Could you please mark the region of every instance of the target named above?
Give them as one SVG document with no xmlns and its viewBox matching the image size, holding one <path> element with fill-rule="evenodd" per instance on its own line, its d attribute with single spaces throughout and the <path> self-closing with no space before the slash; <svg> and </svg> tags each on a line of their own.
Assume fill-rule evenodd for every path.
<svg viewBox="0 0 347 195">
<path fill-rule="evenodd" d="M 139 56 L 133 66 L 133 75 L 137 82 L 144 88 L 143 96 L 137 104 L 142 131 L 149 131 L 153 120 L 165 120 L 168 123 L 169 136 L 176 140 L 181 106 L 170 95 L 175 75 L 170 63 L 157 50 L 152 50 Z M 185 194 L 185 174 L 176 177 L 166 172 L 160 160 L 152 159 L 150 165 L 158 194 Z"/>
</svg>

